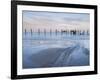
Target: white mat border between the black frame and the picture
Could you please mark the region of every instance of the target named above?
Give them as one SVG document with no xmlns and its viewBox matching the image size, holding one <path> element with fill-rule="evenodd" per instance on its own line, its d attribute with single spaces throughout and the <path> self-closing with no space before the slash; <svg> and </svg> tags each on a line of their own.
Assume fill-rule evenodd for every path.
<svg viewBox="0 0 100 80">
<path fill-rule="evenodd" d="M 93 9 L 18 5 L 17 10 L 18 10 L 17 11 L 17 15 L 18 15 L 17 16 L 17 22 L 18 22 L 17 75 L 94 71 L 94 16 L 93 16 L 94 10 Z M 90 66 L 22 69 L 22 10 L 89 13 L 90 14 L 90 53 L 91 53 Z"/>
</svg>

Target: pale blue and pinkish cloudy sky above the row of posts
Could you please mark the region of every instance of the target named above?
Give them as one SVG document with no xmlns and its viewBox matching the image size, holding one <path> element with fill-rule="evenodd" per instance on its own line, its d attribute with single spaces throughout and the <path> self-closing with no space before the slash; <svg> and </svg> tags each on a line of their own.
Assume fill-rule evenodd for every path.
<svg viewBox="0 0 100 80">
<path fill-rule="evenodd" d="M 23 30 L 55 31 L 56 29 L 89 30 L 90 15 L 88 13 L 23 11 Z"/>
</svg>

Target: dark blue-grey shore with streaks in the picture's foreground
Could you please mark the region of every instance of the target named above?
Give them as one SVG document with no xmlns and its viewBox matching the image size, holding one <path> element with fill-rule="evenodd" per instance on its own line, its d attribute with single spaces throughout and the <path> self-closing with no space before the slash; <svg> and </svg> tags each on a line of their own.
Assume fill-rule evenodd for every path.
<svg viewBox="0 0 100 80">
<path fill-rule="evenodd" d="M 31 54 L 23 68 L 44 68 L 89 65 L 89 50 L 80 46 L 49 48 Z"/>
</svg>

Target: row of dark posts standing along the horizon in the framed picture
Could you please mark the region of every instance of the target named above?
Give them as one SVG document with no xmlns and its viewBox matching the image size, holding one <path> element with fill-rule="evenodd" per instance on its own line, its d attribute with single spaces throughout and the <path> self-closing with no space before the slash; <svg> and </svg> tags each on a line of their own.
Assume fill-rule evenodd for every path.
<svg viewBox="0 0 100 80">
<path fill-rule="evenodd" d="M 31 35 L 33 35 L 34 31 L 32 29 L 30 29 L 30 31 L 27 31 L 26 29 L 24 30 L 25 35 L 27 34 L 27 32 L 30 32 Z M 44 33 L 44 35 L 47 34 L 46 29 L 44 29 L 43 32 L 40 31 L 40 29 L 37 30 L 37 33 L 40 35 L 41 33 Z M 70 35 L 89 35 L 89 31 L 88 30 L 61 30 L 58 31 L 57 29 L 55 31 L 52 31 L 50 29 L 49 34 L 52 35 L 52 33 L 55 33 L 56 35 L 58 33 L 61 33 L 61 35 L 63 34 L 70 34 Z"/>
</svg>

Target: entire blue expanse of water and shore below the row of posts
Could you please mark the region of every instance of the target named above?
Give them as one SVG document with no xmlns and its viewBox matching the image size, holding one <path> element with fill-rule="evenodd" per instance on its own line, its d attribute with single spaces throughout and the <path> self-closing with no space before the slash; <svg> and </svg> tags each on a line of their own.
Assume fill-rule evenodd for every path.
<svg viewBox="0 0 100 80">
<path fill-rule="evenodd" d="M 23 68 L 89 65 L 89 35 L 23 36 Z"/>
</svg>

